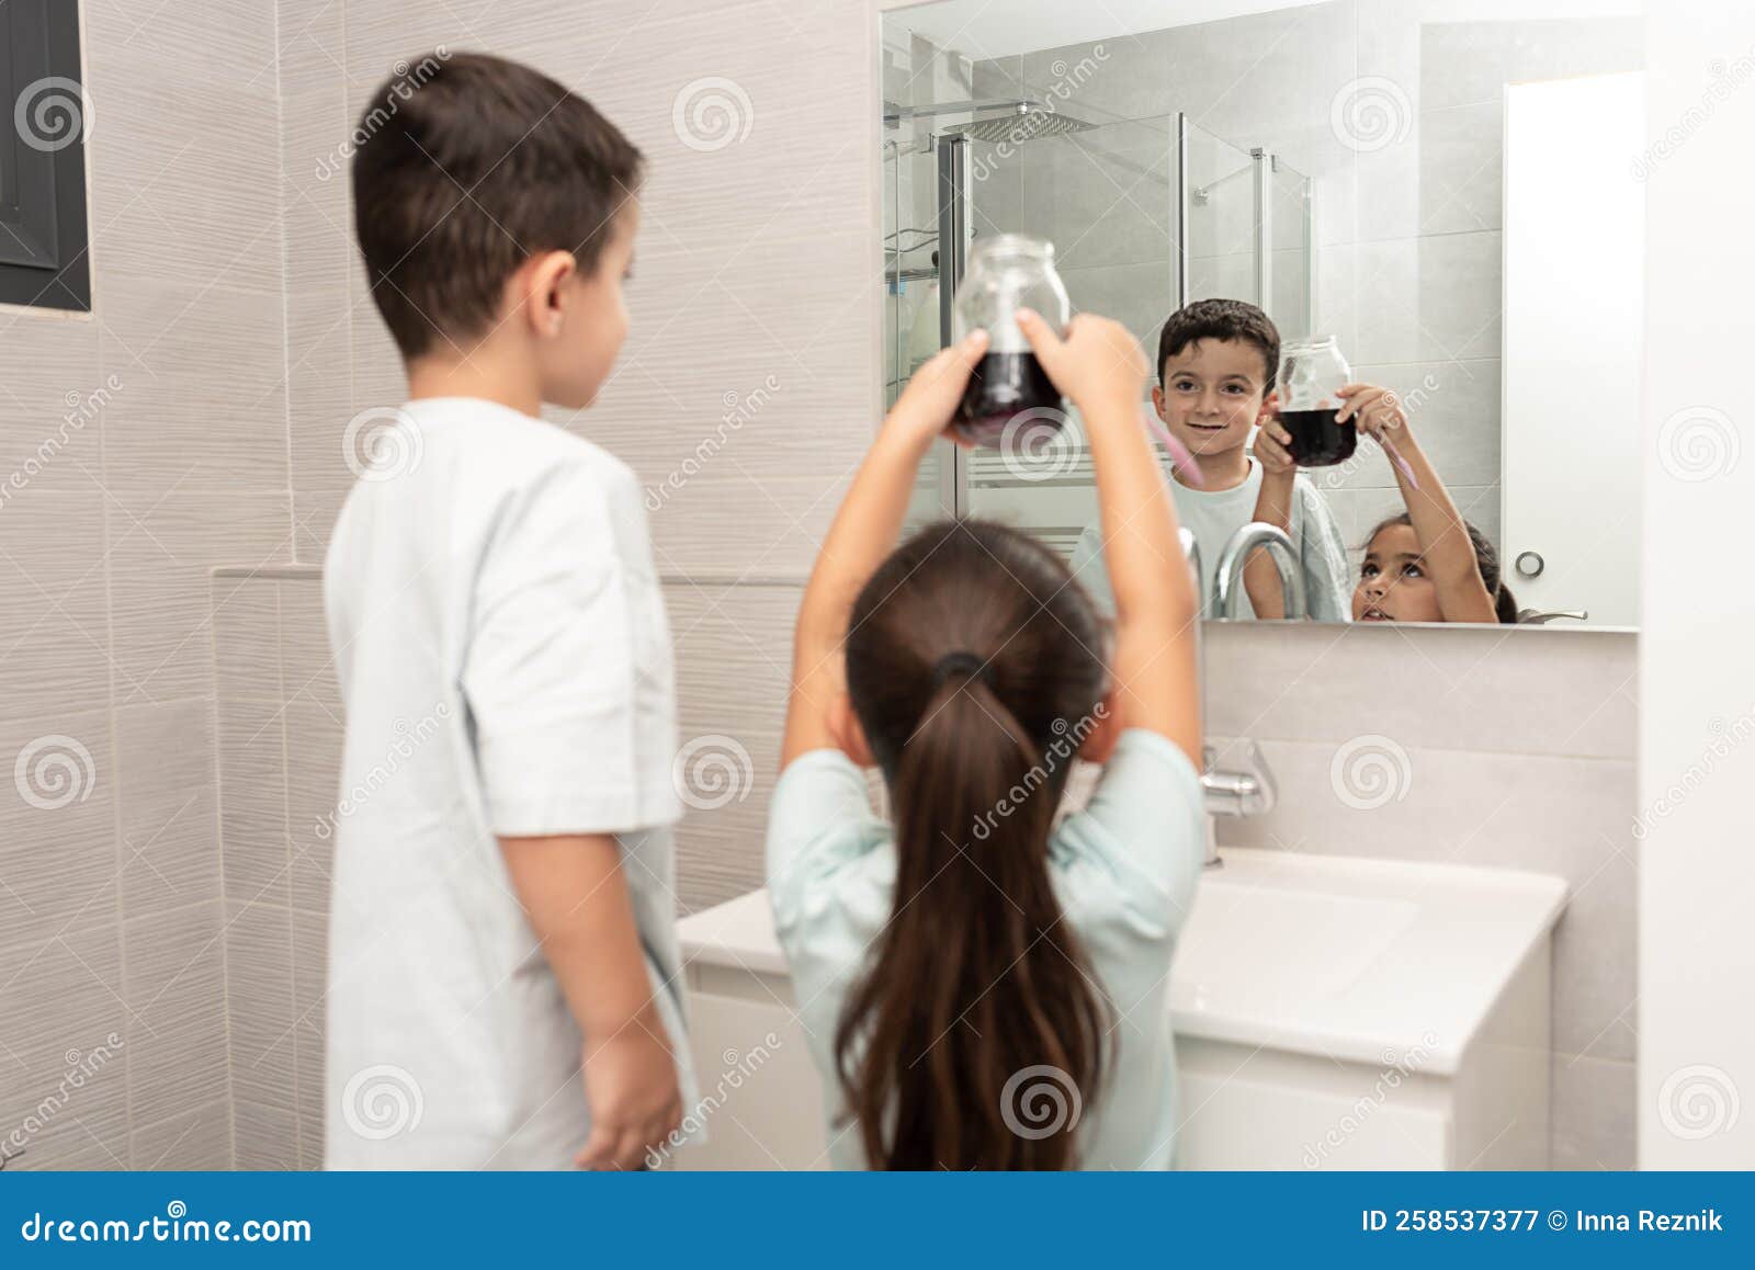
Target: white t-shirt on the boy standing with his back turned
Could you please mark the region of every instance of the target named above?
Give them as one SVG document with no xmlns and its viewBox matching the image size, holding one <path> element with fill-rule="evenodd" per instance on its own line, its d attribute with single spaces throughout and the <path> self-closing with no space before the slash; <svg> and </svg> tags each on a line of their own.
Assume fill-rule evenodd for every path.
<svg viewBox="0 0 1755 1270">
<path fill-rule="evenodd" d="M 326 1168 L 569 1168 L 579 1028 L 497 835 L 614 833 L 693 1103 L 676 944 L 670 633 L 634 474 L 493 402 L 426 398 L 325 561 L 346 702 Z"/>
</svg>

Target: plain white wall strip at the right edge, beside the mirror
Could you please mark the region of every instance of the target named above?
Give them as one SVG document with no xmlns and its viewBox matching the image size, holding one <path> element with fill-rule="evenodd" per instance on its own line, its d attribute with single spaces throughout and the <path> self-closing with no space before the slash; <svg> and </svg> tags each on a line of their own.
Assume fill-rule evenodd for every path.
<svg viewBox="0 0 1755 1270">
<path fill-rule="evenodd" d="M 1706 111 L 1715 70 L 1737 82 Z M 1665 5 L 1648 79 L 1648 135 L 1669 153 L 1653 153 L 1646 182 L 1639 1163 L 1750 1168 L 1755 454 L 1739 451 L 1755 344 L 1755 9 Z"/>
</svg>

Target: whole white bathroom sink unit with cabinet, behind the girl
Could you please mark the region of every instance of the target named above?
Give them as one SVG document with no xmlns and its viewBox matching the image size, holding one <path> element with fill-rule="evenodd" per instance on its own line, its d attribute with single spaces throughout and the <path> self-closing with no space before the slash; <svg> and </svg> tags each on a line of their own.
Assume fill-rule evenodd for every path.
<svg viewBox="0 0 1755 1270">
<path fill-rule="evenodd" d="M 1183 1168 L 1543 1168 L 1539 874 L 1227 849 L 1171 965 Z M 765 891 L 679 924 L 702 1072 L 762 1072 L 683 1168 L 820 1168 L 821 1098 Z M 760 1124 L 751 1137 L 744 1126 Z"/>
</svg>

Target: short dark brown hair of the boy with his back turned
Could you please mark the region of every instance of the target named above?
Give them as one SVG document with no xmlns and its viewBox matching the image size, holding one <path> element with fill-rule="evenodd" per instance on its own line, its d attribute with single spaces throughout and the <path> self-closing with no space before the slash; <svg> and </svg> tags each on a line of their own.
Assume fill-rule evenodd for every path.
<svg viewBox="0 0 1755 1270">
<path fill-rule="evenodd" d="M 493 326 L 539 251 L 597 268 L 641 153 L 583 96 L 516 61 L 444 49 L 372 93 L 355 132 L 355 235 L 404 358 Z"/>
</svg>

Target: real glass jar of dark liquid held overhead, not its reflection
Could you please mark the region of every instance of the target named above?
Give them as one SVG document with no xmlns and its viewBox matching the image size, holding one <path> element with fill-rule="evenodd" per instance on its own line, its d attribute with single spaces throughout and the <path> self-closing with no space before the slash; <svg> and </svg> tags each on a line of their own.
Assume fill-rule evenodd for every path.
<svg viewBox="0 0 1755 1270">
<path fill-rule="evenodd" d="M 997 446 L 1006 425 L 1030 412 L 1030 432 L 1065 419 L 1060 391 L 1048 379 L 1018 328 L 1020 309 L 1035 309 L 1057 330 L 1072 316 L 1067 288 L 1055 272 L 1055 244 L 1023 233 L 976 239 L 969 272 L 956 288 L 953 342 L 986 330 L 988 351 L 969 375 L 956 407 L 956 430 L 981 446 Z"/>
</svg>

